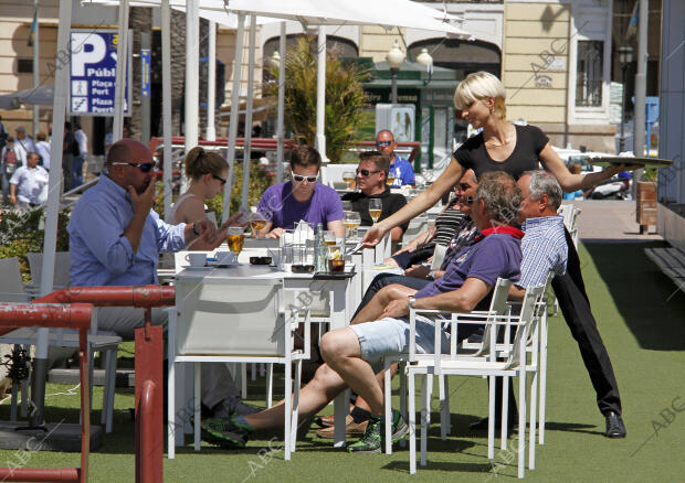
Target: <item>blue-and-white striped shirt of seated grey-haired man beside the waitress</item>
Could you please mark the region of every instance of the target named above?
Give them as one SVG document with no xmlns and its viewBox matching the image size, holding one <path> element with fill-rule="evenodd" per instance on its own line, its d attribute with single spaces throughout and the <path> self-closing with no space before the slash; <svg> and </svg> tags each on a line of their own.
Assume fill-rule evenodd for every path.
<svg viewBox="0 0 685 483">
<path fill-rule="evenodd" d="M 521 229 L 526 235 L 520 244 L 524 258 L 517 286 L 527 289 L 545 285 L 550 269 L 557 275 L 566 273 L 568 246 L 563 234 L 563 217 L 528 218 Z"/>
</svg>

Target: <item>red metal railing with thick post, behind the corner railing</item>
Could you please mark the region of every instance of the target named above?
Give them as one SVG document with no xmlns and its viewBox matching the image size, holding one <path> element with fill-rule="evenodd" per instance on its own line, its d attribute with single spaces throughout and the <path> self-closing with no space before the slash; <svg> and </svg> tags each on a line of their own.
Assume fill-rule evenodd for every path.
<svg viewBox="0 0 685 483">
<path fill-rule="evenodd" d="M 92 303 L 95 307 L 135 307 L 145 309 L 145 325 L 136 329 L 136 481 L 161 483 L 164 476 L 164 395 L 161 394 L 161 388 L 164 387 L 164 333 L 160 326 L 151 325 L 151 310 L 156 307 L 173 305 L 176 303 L 176 289 L 167 286 L 72 287 L 70 289 L 56 290 L 35 300 L 33 303 L 74 303 L 76 305 L 72 307 L 80 307 L 78 303 L 84 302 Z M 42 324 L 42 326 L 52 328 L 53 325 Z M 13 329 L 6 331 L 4 328 L 0 328 L 0 335 L 11 330 Z M 87 350 L 85 352 L 87 353 Z M 81 361 L 84 361 L 84 358 L 82 357 Z M 87 375 L 87 364 L 85 367 L 85 374 Z M 146 383 L 152 383 L 152 386 L 149 384 L 146 386 Z M 154 388 L 158 390 L 152 390 Z M 85 393 L 89 397 L 89 393 Z M 91 407 L 91 404 L 89 400 L 86 401 L 87 404 L 84 405 L 82 391 L 82 420 L 88 421 L 87 434 L 89 438 L 89 418 L 86 416 L 89 416 L 87 415 L 87 408 Z M 85 415 L 83 414 L 84 408 Z M 2 473 L 0 473 L 1 476 Z M 56 481 L 56 476 L 53 480 L 7 481 Z"/>
</svg>

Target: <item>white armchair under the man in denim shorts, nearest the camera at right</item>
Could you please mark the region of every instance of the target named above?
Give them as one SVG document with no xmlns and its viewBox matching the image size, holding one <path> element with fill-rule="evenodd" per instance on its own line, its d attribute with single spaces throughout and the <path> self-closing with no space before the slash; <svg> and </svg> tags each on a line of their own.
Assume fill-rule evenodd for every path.
<svg viewBox="0 0 685 483">
<path fill-rule="evenodd" d="M 538 372 L 538 352 L 536 344 L 539 343 L 537 335 L 537 302 L 544 293 L 544 286 L 535 287 L 526 291 L 526 297 L 521 304 L 521 313 L 515 315 L 493 315 L 489 312 L 468 314 L 449 313 L 438 310 L 411 310 L 410 311 L 410 337 L 409 337 L 409 364 L 407 373 L 409 376 L 409 434 L 410 434 L 410 473 L 415 473 L 415 390 L 414 377 L 418 374 L 424 375 L 423 397 L 422 397 L 422 415 L 429 410 L 428 407 L 428 378 L 433 375 L 466 375 L 466 376 L 486 376 L 489 377 L 489 420 L 488 420 L 488 459 L 494 459 L 494 436 L 495 436 L 495 376 L 518 377 L 519 378 L 519 398 L 520 407 L 518 414 L 518 477 L 524 476 L 525 464 L 525 428 L 526 428 L 526 390 L 527 390 L 527 373 L 533 373 L 531 382 L 531 409 L 530 409 L 530 440 L 535 441 L 535 422 L 537 400 L 537 372 Z M 440 331 L 442 324 L 435 324 L 435 353 L 434 354 L 417 354 L 415 347 L 415 316 L 417 314 L 428 315 L 432 318 L 449 316 L 443 320 L 451 325 L 451 347 L 449 354 L 442 354 Z M 459 333 L 459 324 L 486 324 L 492 329 L 487 336 L 484 336 L 483 344 L 486 339 L 489 340 L 489 350 L 481 356 L 461 356 L 456 348 L 456 335 Z M 505 337 L 504 343 L 497 343 L 497 326 L 515 330 L 515 339 L 512 344 Z M 528 351 L 526 345 L 530 343 L 531 350 Z M 498 348 L 508 345 L 508 355 L 506 361 L 497 361 Z M 530 354 L 530 362 L 527 355 Z M 504 401 L 503 401 L 504 402 Z M 506 421 L 506 406 L 503 406 L 503 421 Z M 428 418 L 422 418 L 421 429 L 421 464 L 426 464 L 426 438 L 428 438 Z M 529 444 L 529 468 L 535 466 L 535 443 Z"/>
</svg>

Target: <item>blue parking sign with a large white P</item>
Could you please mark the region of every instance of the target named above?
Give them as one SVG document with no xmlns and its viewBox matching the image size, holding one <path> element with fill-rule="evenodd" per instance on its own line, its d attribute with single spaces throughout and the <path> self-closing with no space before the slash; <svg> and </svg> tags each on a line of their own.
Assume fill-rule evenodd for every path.
<svg viewBox="0 0 685 483">
<path fill-rule="evenodd" d="M 114 30 L 72 30 L 68 101 L 71 116 L 114 116 L 117 41 L 118 34 Z M 127 58 L 130 60 L 130 42 L 128 45 Z M 124 114 L 130 115 L 130 62 L 127 62 L 127 66 Z"/>
</svg>

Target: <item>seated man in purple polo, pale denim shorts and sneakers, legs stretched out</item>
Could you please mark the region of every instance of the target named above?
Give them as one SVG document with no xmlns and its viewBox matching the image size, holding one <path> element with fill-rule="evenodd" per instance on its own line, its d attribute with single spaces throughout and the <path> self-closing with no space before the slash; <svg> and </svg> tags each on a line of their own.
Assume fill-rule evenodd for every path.
<svg viewBox="0 0 685 483">
<path fill-rule="evenodd" d="M 370 405 L 371 417 L 361 440 L 350 447 L 350 452 L 378 453 L 381 448 L 380 422 L 383 415 L 382 364 L 388 355 L 398 354 L 408 345 L 409 299 L 413 296 L 417 308 L 444 309 L 455 312 L 474 310 L 485 299 L 497 278 L 518 280 L 520 266 L 520 238 L 523 232 L 508 223 L 512 211 L 518 210 L 520 190 L 512 176 L 504 172 L 483 175 L 472 207 L 472 218 L 483 237 L 460 251 L 438 281 L 420 291 L 402 286 L 388 286 L 367 305 L 377 307 L 375 322 L 359 323 L 328 332 L 322 340 L 322 365 L 299 393 L 302 420 L 315 415 L 340 391 L 351 387 Z M 400 292 L 404 290 L 404 292 Z M 376 299 L 387 302 L 380 307 Z M 378 308 L 380 307 L 380 308 Z M 366 309 L 365 309 L 366 310 Z M 474 324 L 474 326 L 476 326 Z M 434 325 L 425 318 L 417 320 L 417 350 L 433 350 Z M 468 334 L 461 334 L 466 336 Z M 447 334 L 443 333 L 442 346 L 449 348 Z M 210 442 L 224 448 L 244 448 L 255 430 L 282 426 L 284 406 L 276 405 L 249 416 L 229 419 L 202 420 L 202 434 Z M 393 440 L 407 431 L 399 412 L 393 414 Z"/>
</svg>

